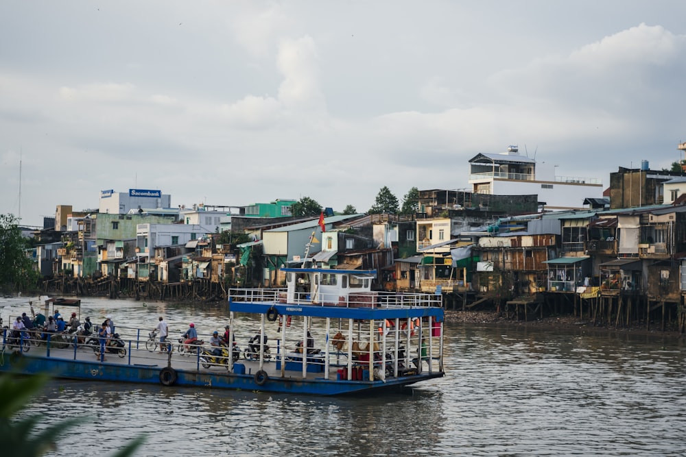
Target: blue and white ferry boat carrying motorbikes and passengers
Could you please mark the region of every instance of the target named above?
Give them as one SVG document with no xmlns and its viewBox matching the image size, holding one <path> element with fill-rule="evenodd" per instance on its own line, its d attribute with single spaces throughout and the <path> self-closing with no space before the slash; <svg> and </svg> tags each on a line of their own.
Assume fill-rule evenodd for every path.
<svg viewBox="0 0 686 457">
<path fill-rule="evenodd" d="M 375 270 L 281 271 L 285 288 L 230 290 L 230 334 L 268 336 L 256 336 L 241 356 L 228 349 L 215 356 L 206 344 L 186 351 L 176 342 L 160 351 L 143 330 L 120 335 L 114 354 L 78 336 L 67 345 L 52 334 L 12 341 L 5 330 L 0 371 L 316 395 L 390 390 L 445 375 L 440 295 L 372 291 Z"/>
</svg>

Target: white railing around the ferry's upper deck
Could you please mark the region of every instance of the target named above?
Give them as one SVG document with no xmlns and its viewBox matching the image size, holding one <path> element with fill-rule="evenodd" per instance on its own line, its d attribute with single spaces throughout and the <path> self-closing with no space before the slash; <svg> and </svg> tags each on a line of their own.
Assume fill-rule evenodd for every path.
<svg viewBox="0 0 686 457">
<path fill-rule="evenodd" d="M 442 306 L 440 295 L 390 291 L 351 291 L 347 295 L 324 292 L 295 292 L 289 294 L 285 289 L 255 288 L 230 289 L 229 297 L 232 301 L 247 303 L 266 302 L 274 304 L 338 306 L 343 308 L 416 308 Z"/>
</svg>

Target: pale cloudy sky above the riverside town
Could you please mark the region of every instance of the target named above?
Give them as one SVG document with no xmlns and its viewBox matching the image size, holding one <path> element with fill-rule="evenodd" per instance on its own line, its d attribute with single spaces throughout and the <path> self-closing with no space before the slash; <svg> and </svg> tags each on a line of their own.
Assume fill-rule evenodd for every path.
<svg viewBox="0 0 686 457">
<path fill-rule="evenodd" d="M 4 0 L 0 214 L 42 225 L 130 188 L 365 212 L 383 186 L 466 188 L 508 145 L 608 186 L 683 158 L 684 18 L 681 0 Z"/>
</svg>

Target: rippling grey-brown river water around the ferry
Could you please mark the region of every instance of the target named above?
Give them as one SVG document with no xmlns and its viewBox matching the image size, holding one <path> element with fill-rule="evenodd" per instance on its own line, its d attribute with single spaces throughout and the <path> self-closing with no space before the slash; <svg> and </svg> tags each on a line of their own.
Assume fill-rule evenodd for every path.
<svg viewBox="0 0 686 457">
<path fill-rule="evenodd" d="M 1 317 L 28 310 L 3 299 Z M 67 315 L 71 310 L 60 310 Z M 220 330 L 224 306 L 84 299 L 95 323 Z M 445 325 L 447 375 L 407 393 L 311 397 L 55 380 L 24 415 L 85 415 L 51 456 L 686 455 L 686 345 L 659 334 Z M 174 336 L 171 332 L 171 336 Z M 246 335 L 246 338 L 248 335 Z M 240 336 L 237 336 L 240 341 Z"/>
</svg>

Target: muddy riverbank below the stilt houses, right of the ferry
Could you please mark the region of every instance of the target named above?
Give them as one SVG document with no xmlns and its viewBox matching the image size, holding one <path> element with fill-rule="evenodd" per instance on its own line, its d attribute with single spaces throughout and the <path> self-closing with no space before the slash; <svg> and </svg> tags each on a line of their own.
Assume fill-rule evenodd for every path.
<svg viewBox="0 0 686 457">
<path fill-rule="evenodd" d="M 445 310 L 445 321 L 486 326 L 512 326 L 523 328 L 540 328 L 549 330 L 579 330 L 596 333 L 624 333 L 636 335 L 666 336 L 670 338 L 681 338 L 686 341 L 686 334 L 679 333 L 677 330 L 661 330 L 659 323 L 650 325 L 647 329 L 645 325 L 632 325 L 628 328 L 615 328 L 614 325 L 593 325 L 589 319 L 580 319 L 577 316 L 555 316 L 534 319 L 530 321 L 517 321 L 508 319 L 495 311 L 456 311 Z"/>
</svg>

